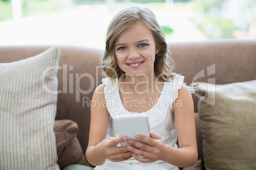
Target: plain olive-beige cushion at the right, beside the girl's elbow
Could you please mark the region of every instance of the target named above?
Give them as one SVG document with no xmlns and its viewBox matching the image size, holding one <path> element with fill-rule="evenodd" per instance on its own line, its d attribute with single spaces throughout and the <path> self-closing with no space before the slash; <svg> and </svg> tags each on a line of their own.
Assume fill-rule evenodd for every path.
<svg viewBox="0 0 256 170">
<path fill-rule="evenodd" d="M 256 81 L 194 87 L 206 169 L 255 169 Z"/>
</svg>

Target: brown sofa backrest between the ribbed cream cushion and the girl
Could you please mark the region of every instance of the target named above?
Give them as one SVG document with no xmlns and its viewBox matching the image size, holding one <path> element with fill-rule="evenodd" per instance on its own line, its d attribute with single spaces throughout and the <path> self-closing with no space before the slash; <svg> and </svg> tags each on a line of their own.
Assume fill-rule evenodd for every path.
<svg viewBox="0 0 256 170">
<path fill-rule="evenodd" d="M 61 47 L 59 89 L 56 119 L 69 119 L 78 124 L 78 140 L 83 153 L 88 145 L 90 128 L 90 101 L 94 89 L 103 79 L 99 49 Z"/>
</svg>

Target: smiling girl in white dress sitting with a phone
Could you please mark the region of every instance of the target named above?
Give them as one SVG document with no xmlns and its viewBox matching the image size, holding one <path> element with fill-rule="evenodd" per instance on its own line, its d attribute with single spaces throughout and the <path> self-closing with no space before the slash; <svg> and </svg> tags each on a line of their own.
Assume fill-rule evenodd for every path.
<svg viewBox="0 0 256 170">
<path fill-rule="evenodd" d="M 92 97 L 86 151 L 90 164 L 96 170 L 193 166 L 197 145 L 192 97 L 184 77 L 172 73 L 174 62 L 152 11 L 132 7 L 113 18 L 103 69 L 108 78 Z M 142 112 L 148 115 L 150 137 L 136 135 L 139 141 L 118 137 L 115 117 Z M 123 141 L 130 145 L 121 147 Z"/>
</svg>

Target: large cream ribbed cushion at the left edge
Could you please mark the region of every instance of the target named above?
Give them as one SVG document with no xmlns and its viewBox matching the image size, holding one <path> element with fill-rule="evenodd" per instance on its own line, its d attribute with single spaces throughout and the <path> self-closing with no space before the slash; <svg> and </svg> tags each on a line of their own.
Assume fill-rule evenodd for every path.
<svg viewBox="0 0 256 170">
<path fill-rule="evenodd" d="M 0 169 L 59 169 L 53 131 L 60 48 L 0 63 Z"/>
</svg>

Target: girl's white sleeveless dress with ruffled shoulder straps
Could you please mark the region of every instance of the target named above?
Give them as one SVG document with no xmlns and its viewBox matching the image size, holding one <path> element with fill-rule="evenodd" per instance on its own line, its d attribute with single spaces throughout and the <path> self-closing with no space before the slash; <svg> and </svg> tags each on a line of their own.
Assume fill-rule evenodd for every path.
<svg viewBox="0 0 256 170">
<path fill-rule="evenodd" d="M 173 113 L 173 102 L 178 97 L 178 89 L 181 88 L 183 84 L 184 77 L 177 75 L 176 79 L 170 82 L 164 82 L 164 86 L 157 100 L 152 101 L 152 108 L 143 112 L 148 116 L 148 122 L 150 126 L 150 131 L 157 133 L 161 136 L 164 143 L 171 147 L 176 147 L 177 133 L 174 123 L 174 113 Z M 116 79 L 113 84 L 111 83 L 110 78 L 103 79 L 104 96 L 106 100 L 106 105 L 108 112 L 110 113 L 110 122 L 108 126 L 108 137 L 116 137 L 117 131 L 115 129 L 115 117 L 117 115 L 123 114 L 139 114 L 134 112 L 129 112 L 122 105 L 119 94 L 119 86 L 117 84 L 118 80 Z M 173 155 L 170 155 L 170 157 Z M 150 163 L 141 163 L 133 157 L 122 162 L 112 162 L 111 160 L 106 160 L 102 166 L 95 167 L 95 170 L 114 170 L 114 169 L 123 169 L 123 170 L 160 170 L 160 169 L 178 169 L 167 162 L 162 160 L 157 160 Z"/>
</svg>

